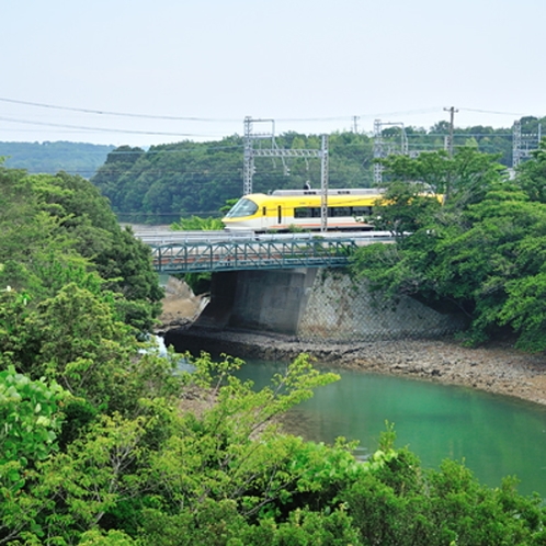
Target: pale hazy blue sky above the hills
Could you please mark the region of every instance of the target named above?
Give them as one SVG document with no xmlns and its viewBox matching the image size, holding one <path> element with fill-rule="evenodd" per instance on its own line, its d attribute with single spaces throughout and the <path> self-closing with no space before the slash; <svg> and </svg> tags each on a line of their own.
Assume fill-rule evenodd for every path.
<svg viewBox="0 0 546 546">
<path fill-rule="evenodd" d="M 376 118 L 429 128 L 450 106 L 460 127 L 546 115 L 545 0 L 0 7 L 0 140 L 147 146 L 242 134 L 244 116 L 372 133 Z"/>
</svg>

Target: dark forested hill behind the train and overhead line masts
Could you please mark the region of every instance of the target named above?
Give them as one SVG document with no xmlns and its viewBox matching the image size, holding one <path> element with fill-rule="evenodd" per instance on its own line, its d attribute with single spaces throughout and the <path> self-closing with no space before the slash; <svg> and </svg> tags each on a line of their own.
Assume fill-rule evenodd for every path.
<svg viewBox="0 0 546 546">
<path fill-rule="evenodd" d="M 537 135 L 541 120 L 521 120 L 522 135 Z M 450 124 L 440 122 L 430 129 L 406 127 L 407 152 L 444 149 Z M 400 152 L 402 133 L 397 126 L 382 133 L 385 156 Z M 470 146 L 486 153 L 500 153 L 499 161 L 512 166 L 512 129 L 476 126 L 456 129 L 454 146 Z M 360 133 L 329 135 L 329 184 L 331 187 L 371 187 L 374 183 L 374 138 Z M 533 141 L 536 148 L 537 140 Z M 320 149 L 320 136 L 287 133 L 275 138 L 284 149 Z M 271 139 L 254 146 L 270 147 Z M 183 141 L 140 148 L 122 146 L 112 150 L 91 181 L 109 197 L 113 209 L 125 221 L 170 224 L 184 216 L 218 215 L 227 200 L 242 193 L 243 139 L 226 137 L 218 141 Z M 257 158 L 254 192 L 300 189 L 309 181 L 320 185 L 317 159 Z"/>
</svg>

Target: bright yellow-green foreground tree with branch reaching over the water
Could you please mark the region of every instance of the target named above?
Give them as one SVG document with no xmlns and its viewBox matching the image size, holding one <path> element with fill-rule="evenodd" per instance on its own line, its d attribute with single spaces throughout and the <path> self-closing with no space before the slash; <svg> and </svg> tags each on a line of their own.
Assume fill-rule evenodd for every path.
<svg viewBox="0 0 546 546">
<path fill-rule="evenodd" d="M 303 441 L 280 434 L 273 420 L 335 376 L 319 374 L 300 356 L 273 387 L 257 393 L 231 375 L 240 361 L 215 364 L 203 355 L 194 364 L 195 372 L 184 374 L 187 388 L 205 389 L 211 407 L 198 421 L 171 416 L 173 435 L 152 467 L 153 481 L 169 491 L 170 502 L 191 508 L 206 498 L 232 499 L 244 514 L 255 515 L 288 502 L 298 487 L 310 488 L 306 469 L 295 464 Z"/>
</svg>

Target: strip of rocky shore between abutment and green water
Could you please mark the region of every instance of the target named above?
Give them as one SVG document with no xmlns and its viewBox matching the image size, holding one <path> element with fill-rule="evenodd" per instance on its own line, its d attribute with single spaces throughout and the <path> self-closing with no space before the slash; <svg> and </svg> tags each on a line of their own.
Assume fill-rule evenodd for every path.
<svg viewBox="0 0 546 546">
<path fill-rule="evenodd" d="M 211 348 L 212 353 L 241 359 L 289 361 L 308 353 L 316 365 L 402 375 L 446 385 L 459 385 L 546 405 L 546 355 L 530 355 L 511 345 L 479 349 L 453 339 L 389 340 L 352 343 L 304 342 L 281 334 L 174 328 L 168 344 Z"/>
</svg>

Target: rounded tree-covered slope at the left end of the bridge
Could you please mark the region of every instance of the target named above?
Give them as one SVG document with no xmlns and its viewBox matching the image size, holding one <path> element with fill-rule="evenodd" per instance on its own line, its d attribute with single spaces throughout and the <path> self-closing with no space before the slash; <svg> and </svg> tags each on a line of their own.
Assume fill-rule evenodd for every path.
<svg viewBox="0 0 546 546">
<path fill-rule="evenodd" d="M 150 330 L 163 292 L 148 247 L 122 231 L 107 201 L 80 177 L 0 168 L 0 286 L 34 303 L 73 282 L 116 293 L 122 319 Z"/>
</svg>

